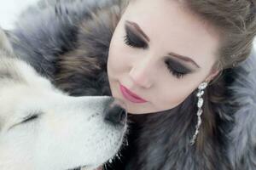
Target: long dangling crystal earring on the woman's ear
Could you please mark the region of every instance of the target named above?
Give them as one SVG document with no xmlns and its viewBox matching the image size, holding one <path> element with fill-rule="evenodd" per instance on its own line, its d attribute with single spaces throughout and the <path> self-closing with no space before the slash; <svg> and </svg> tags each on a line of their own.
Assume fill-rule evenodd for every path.
<svg viewBox="0 0 256 170">
<path fill-rule="evenodd" d="M 196 94 L 196 97 L 198 98 L 197 102 L 197 124 L 195 126 L 195 134 L 193 135 L 193 138 L 190 140 L 190 144 L 193 145 L 195 144 L 195 139 L 197 134 L 199 133 L 199 127 L 201 126 L 201 114 L 202 114 L 202 109 L 201 106 L 204 103 L 204 99 L 202 99 L 202 95 L 205 93 L 204 89 L 207 88 L 208 82 L 202 82 L 199 87 L 198 87 L 198 93 Z"/>
</svg>

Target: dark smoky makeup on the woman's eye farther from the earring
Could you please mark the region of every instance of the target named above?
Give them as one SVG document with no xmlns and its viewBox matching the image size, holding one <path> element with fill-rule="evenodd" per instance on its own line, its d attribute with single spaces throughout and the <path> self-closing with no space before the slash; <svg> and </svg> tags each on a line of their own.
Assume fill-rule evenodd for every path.
<svg viewBox="0 0 256 170">
<path fill-rule="evenodd" d="M 129 26 L 129 22 L 125 23 L 125 44 L 131 46 L 132 48 L 148 48 L 148 43 L 143 40 L 139 33 Z"/>
</svg>

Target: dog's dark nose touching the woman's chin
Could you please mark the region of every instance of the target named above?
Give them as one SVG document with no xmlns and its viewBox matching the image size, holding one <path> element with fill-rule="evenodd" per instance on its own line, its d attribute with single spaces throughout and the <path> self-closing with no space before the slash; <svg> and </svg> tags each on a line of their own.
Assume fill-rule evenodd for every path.
<svg viewBox="0 0 256 170">
<path fill-rule="evenodd" d="M 105 121 L 113 125 L 124 126 L 126 122 L 127 112 L 125 105 L 119 99 L 114 99 L 105 110 Z"/>
</svg>

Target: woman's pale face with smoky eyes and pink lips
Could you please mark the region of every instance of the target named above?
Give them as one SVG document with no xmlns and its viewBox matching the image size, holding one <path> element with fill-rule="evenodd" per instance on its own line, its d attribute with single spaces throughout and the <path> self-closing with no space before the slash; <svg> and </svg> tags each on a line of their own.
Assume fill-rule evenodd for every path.
<svg viewBox="0 0 256 170">
<path fill-rule="evenodd" d="M 217 75 L 212 65 L 218 44 L 218 33 L 181 3 L 132 1 L 110 43 L 112 95 L 125 102 L 129 113 L 172 109 Z"/>
</svg>

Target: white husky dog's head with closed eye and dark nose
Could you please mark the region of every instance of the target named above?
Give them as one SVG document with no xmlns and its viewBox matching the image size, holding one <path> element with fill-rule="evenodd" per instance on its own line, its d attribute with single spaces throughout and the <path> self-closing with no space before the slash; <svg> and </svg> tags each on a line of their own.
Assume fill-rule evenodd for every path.
<svg viewBox="0 0 256 170">
<path fill-rule="evenodd" d="M 122 103 L 71 97 L 17 59 L 0 30 L 0 169 L 89 170 L 110 160 L 126 129 Z"/>
</svg>

